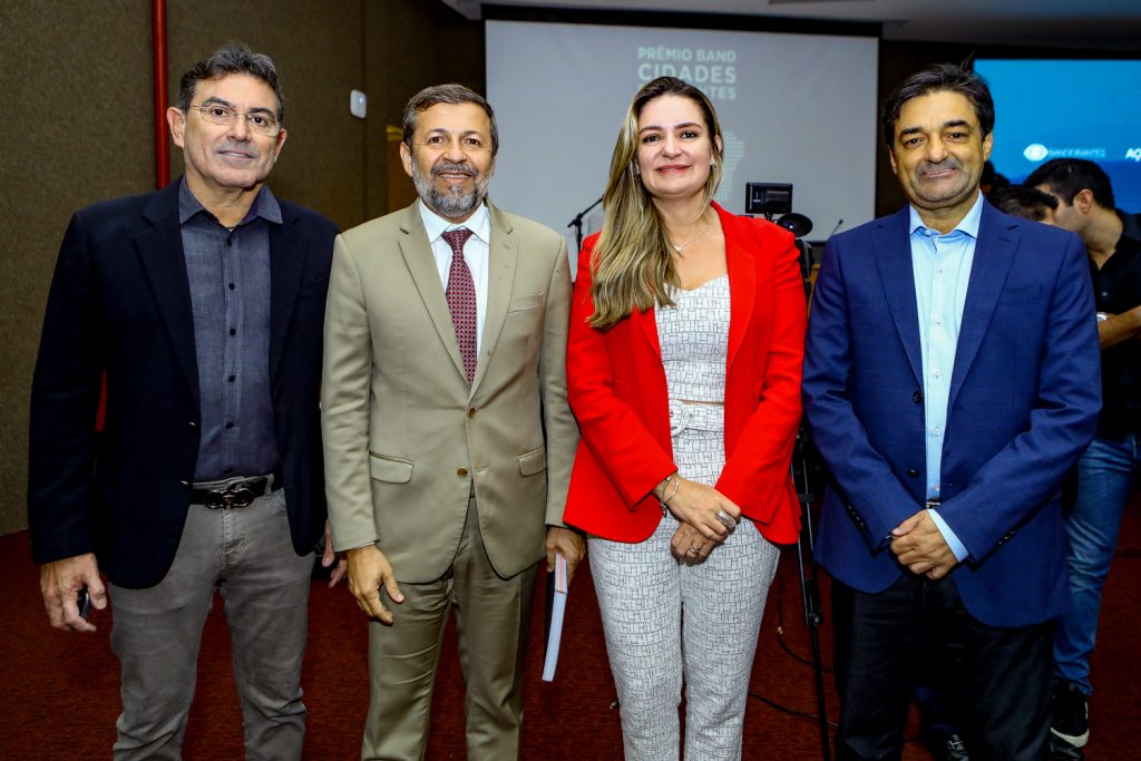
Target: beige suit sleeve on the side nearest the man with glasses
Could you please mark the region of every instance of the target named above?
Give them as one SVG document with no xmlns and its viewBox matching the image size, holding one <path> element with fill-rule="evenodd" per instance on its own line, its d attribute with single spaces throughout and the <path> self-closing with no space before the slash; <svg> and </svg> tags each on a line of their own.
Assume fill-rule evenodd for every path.
<svg viewBox="0 0 1141 761">
<path fill-rule="evenodd" d="M 372 340 L 364 293 L 345 236 L 338 235 L 325 302 L 321 383 L 325 495 L 337 550 L 379 539 L 369 463 Z"/>
</svg>

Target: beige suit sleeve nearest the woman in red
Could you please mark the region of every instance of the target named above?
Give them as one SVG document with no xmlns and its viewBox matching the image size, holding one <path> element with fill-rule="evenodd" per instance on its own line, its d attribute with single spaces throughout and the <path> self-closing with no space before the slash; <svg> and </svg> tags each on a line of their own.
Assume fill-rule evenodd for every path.
<svg viewBox="0 0 1141 761">
<path fill-rule="evenodd" d="M 578 444 L 578 427 L 567 404 L 567 329 L 570 322 L 570 265 L 566 242 L 559 237 L 559 250 L 547 290 L 547 314 L 543 317 L 543 346 L 539 358 L 540 394 L 543 404 L 543 428 L 547 436 L 547 525 L 566 526 L 566 508 L 570 468 Z"/>
</svg>

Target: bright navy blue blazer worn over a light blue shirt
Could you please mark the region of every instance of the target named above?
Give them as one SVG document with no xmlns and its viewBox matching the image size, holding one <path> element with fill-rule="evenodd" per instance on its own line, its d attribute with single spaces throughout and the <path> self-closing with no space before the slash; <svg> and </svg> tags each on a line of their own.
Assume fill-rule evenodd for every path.
<svg viewBox="0 0 1141 761">
<path fill-rule="evenodd" d="M 831 473 L 817 558 L 880 592 L 893 527 L 925 497 L 923 367 L 908 210 L 830 241 L 804 354 L 804 413 Z M 1101 359 L 1082 241 L 984 204 L 955 354 L 939 515 L 970 552 L 952 577 L 996 626 L 1069 605 L 1059 484 L 1094 435 Z"/>
</svg>

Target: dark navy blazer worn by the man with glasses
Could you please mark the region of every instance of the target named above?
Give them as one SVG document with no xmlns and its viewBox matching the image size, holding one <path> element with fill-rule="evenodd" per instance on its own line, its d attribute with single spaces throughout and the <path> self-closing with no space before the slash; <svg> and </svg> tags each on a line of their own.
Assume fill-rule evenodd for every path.
<svg viewBox="0 0 1141 761">
<path fill-rule="evenodd" d="M 75 212 L 48 294 L 32 382 L 32 553 L 95 552 L 120 586 L 159 583 L 189 504 L 200 416 L 178 186 Z M 280 201 L 269 225 L 269 384 L 293 549 L 324 529 L 319 383 L 337 226 Z M 95 434 L 100 379 L 105 428 Z"/>
</svg>

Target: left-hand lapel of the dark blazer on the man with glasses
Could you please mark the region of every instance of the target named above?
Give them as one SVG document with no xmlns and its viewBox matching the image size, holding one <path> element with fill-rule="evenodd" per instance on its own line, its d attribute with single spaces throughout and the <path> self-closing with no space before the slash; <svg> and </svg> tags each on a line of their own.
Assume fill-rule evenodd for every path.
<svg viewBox="0 0 1141 761">
<path fill-rule="evenodd" d="M 183 370 L 183 378 L 199 398 L 199 365 L 194 348 L 194 311 L 191 285 L 183 257 L 183 235 L 178 225 L 178 188 L 176 180 L 154 194 L 143 212 L 151 227 L 135 236 L 143 273 L 151 286 L 155 309 L 167 330 L 170 349 Z"/>
</svg>

